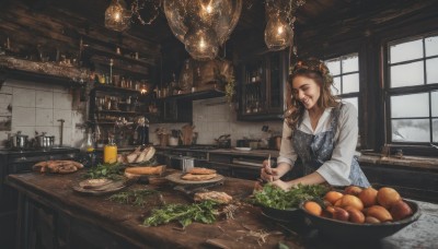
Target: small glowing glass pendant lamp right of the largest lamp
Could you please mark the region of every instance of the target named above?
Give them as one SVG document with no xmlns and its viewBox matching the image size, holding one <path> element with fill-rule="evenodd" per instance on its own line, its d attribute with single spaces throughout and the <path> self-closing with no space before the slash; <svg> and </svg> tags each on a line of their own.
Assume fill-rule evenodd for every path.
<svg viewBox="0 0 438 249">
<path fill-rule="evenodd" d="M 293 29 L 279 14 L 270 15 L 265 28 L 265 44 L 272 51 L 292 45 Z"/>
</svg>

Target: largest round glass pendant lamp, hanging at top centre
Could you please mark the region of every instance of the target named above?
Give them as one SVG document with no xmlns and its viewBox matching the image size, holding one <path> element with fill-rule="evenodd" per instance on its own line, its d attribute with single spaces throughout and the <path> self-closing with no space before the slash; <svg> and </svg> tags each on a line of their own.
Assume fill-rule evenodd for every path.
<svg viewBox="0 0 438 249">
<path fill-rule="evenodd" d="M 242 0 L 164 0 L 173 34 L 196 60 L 214 59 L 234 29 Z"/>
</svg>

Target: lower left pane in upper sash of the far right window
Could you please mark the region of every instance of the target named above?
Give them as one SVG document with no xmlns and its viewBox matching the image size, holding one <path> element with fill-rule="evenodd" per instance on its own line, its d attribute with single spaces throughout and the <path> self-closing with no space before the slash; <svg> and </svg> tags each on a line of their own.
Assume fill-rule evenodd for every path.
<svg viewBox="0 0 438 249">
<path fill-rule="evenodd" d="M 391 67 L 391 87 L 423 84 L 423 61 Z"/>
</svg>

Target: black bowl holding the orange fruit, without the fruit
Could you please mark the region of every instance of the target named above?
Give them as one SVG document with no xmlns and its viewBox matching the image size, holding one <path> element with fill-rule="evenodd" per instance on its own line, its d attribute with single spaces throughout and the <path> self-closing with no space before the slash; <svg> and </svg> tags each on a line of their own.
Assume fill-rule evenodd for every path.
<svg viewBox="0 0 438 249">
<path fill-rule="evenodd" d="M 356 224 L 316 216 L 306 211 L 303 208 L 304 203 L 301 203 L 300 209 L 303 210 L 304 216 L 310 220 L 311 224 L 323 237 L 336 241 L 371 241 L 393 235 L 418 220 L 420 211 L 417 203 L 406 200 L 403 201 L 411 206 L 413 215 L 401 221 L 380 224 Z"/>
</svg>

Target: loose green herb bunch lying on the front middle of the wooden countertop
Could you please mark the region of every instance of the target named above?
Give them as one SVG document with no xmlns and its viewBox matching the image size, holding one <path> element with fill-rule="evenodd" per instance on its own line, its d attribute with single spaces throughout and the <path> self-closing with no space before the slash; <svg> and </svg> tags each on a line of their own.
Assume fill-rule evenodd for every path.
<svg viewBox="0 0 438 249">
<path fill-rule="evenodd" d="M 143 225 L 157 226 L 166 224 L 172 221 L 178 221 L 183 227 L 191 225 L 193 222 L 211 224 L 219 214 L 216 209 L 218 202 L 207 200 L 193 204 L 169 204 L 162 209 L 152 211 L 152 215 L 145 220 Z"/>
</svg>

